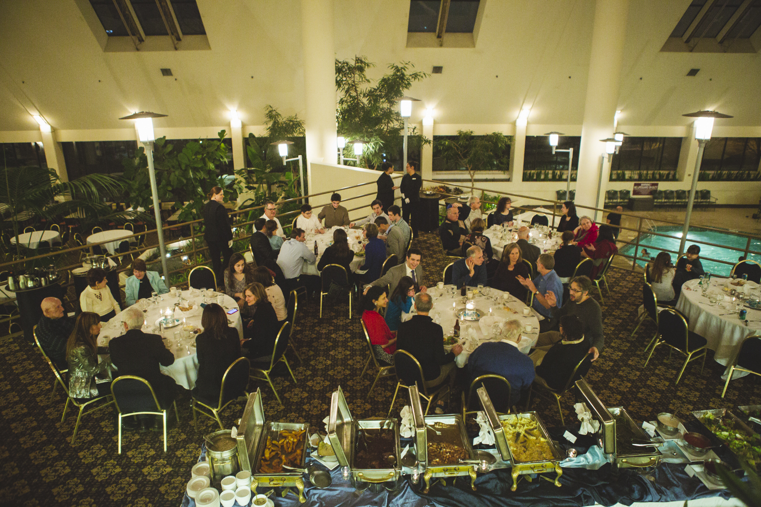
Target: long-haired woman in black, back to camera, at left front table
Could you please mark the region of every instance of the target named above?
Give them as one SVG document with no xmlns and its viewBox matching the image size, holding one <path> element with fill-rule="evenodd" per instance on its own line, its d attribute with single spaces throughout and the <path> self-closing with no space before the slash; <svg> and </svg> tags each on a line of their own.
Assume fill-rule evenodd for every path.
<svg viewBox="0 0 761 507">
<path fill-rule="evenodd" d="M 240 357 L 240 337 L 237 329 L 228 326 L 228 315 L 217 303 L 203 309 L 201 326 L 203 332 L 196 337 L 198 379 L 193 396 L 215 406 L 224 372 Z"/>
</svg>

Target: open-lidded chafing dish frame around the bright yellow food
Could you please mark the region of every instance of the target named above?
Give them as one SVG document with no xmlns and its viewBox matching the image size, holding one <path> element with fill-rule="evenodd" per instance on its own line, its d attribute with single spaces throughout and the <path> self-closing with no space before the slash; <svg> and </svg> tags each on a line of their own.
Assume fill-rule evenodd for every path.
<svg viewBox="0 0 761 507">
<path fill-rule="evenodd" d="M 494 410 L 494 405 L 492 404 L 492 400 L 489 398 L 489 394 L 486 392 L 486 389 L 481 387 L 477 392 L 479 398 L 481 399 L 481 406 L 486 413 L 486 419 L 489 420 L 489 426 L 491 426 L 492 431 L 494 432 L 494 439 L 497 445 L 497 450 L 499 451 L 503 461 L 511 461 L 513 464 L 511 474 L 513 477 L 513 486 L 511 487 L 511 490 L 515 491 L 517 489 L 519 475 L 542 474 L 552 471 L 556 473 L 554 481 L 555 485 L 560 487 L 560 476 L 563 474 L 562 468 L 560 467 L 560 461 L 562 461 L 563 456 L 556 447 L 555 442 L 552 442 L 552 439 L 549 437 L 549 433 L 547 432 L 544 423 L 537 416 L 537 413 L 525 412 L 524 414 L 505 414 L 498 416 L 496 410 Z M 542 438 L 546 439 L 547 445 L 549 445 L 549 450 L 552 452 L 552 459 L 538 461 L 518 461 L 518 459 L 515 458 L 513 452 L 510 449 L 510 445 L 508 445 L 505 429 L 502 427 L 502 421 L 508 420 L 511 417 L 524 417 L 532 421 L 536 421 L 540 433 L 542 434 Z"/>
</svg>

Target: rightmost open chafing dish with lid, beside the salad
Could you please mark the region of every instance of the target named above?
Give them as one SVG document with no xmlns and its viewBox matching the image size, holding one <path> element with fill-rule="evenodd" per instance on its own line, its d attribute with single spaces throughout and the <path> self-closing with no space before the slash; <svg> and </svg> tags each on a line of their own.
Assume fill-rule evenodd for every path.
<svg viewBox="0 0 761 507">
<path fill-rule="evenodd" d="M 589 410 L 600 421 L 600 444 L 605 454 L 615 456 L 613 463 L 616 467 L 653 467 L 661 461 L 661 452 L 654 447 L 638 447 L 635 452 L 619 448 L 616 445 L 616 439 L 621 436 L 624 429 L 616 428 L 617 424 L 626 424 L 626 429 L 638 440 L 649 442 L 650 437 L 634 422 L 626 409 L 606 407 L 584 379 L 576 382 L 576 387 L 581 392 L 581 397 L 584 398 Z"/>
</svg>

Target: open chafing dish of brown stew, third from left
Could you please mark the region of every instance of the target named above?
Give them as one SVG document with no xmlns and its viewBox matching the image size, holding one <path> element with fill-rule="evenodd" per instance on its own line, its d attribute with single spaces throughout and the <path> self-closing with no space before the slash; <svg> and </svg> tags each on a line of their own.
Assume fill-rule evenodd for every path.
<svg viewBox="0 0 761 507">
<path fill-rule="evenodd" d="M 463 417 L 459 414 L 423 416 L 417 385 L 412 385 L 409 388 L 409 403 L 412 407 L 412 420 L 415 423 L 415 444 L 418 461 L 420 462 L 419 466 L 425 470 L 423 473 L 425 489 L 422 493 L 428 493 L 431 487 L 431 477 L 457 477 L 460 475 L 470 475 L 470 487 L 475 491 L 476 467 L 478 465 L 473 463 L 479 463 L 479 461 L 476 453 L 473 452 L 473 446 L 470 445 Z M 439 426 L 446 426 L 436 427 L 437 423 L 439 423 Z M 441 435 L 436 435 L 434 429 L 441 433 Z M 428 455 L 428 445 L 432 443 L 457 445 L 464 449 L 467 459 L 465 462 L 455 461 L 453 463 L 431 464 L 430 456 Z"/>
</svg>

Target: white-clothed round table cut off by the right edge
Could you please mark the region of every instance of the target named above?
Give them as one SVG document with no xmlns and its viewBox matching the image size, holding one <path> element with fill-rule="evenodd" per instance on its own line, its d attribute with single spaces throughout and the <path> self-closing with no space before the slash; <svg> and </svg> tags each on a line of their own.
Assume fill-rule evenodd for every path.
<svg viewBox="0 0 761 507">
<path fill-rule="evenodd" d="M 727 279 L 712 278 L 708 295 L 717 294 L 728 296 L 722 290 Z M 720 301 L 712 304 L 707 296 L 702 295 L 698 285 L 699 279 L 688 280 L 682 286 L 682 293 L 677 301 L 677 310 L 689 319 L 689 330 L 708 340 L 708 348 L 714 350 L 714 360 L 724 366 L 730 364 L 737 351 L 740 350 L 742 341 L 753 335 L 761 333 L 761 310 L 744 306 L 747 309 L 748 325 L 740 320 L 731 301 Z M 746 287 L 750 290 L 758 290 L 758 284 L 748 282 Z M 724 315 L 729 314 L 731 315 Z M 725 374 L 726 375 L 726 374 Z M 747 375 L 747 372 L 734 372 L 733 379 Z"/>
</svg>

